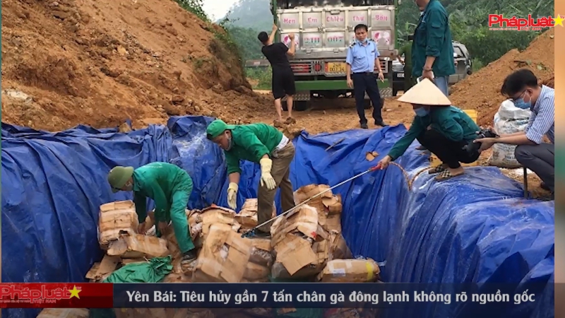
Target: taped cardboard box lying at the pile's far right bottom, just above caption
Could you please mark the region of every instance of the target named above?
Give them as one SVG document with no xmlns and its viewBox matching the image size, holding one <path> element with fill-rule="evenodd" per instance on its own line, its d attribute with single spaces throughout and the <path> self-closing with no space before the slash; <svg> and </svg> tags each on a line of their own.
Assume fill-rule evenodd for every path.
<svg viewBox="0 0 565 318">
<path fill-rule="evenodd" d="M 379 265 L 372 259 L 334 259 L 318 276 L 323 283 L 369 283 L 379 279 Z"/>
</svg>

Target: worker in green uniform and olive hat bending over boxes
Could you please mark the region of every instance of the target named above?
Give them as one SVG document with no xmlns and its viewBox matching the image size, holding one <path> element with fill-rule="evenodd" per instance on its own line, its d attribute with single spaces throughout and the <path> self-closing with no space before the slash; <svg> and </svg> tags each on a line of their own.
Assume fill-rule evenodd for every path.
<svg viewBox="0 0 565 318">
<path fill-rule="evenodd" d="M 186 206 L 192 192 L 192 179 L 177 165 L 149 163 L 133 170 L 133 167 L 114 167 L 108 173 L 112 192 L 133 191 L 133 203 L 139 218 L 138 232 L 145 232 L 147 198 L 155 201 L 155 230 L 157 237 L 172 222 L 174 236 L 182 252 L 182 263 L 196 259 L 196 249 L 191 240 Z"/>
</svg>

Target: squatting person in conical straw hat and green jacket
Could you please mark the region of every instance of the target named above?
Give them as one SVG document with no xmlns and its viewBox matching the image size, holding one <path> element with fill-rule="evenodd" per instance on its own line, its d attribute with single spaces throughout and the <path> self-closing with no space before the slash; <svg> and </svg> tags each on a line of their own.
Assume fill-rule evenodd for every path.
<svg viewBox="0 0 565 318">
<path fill-rule="evenodd" d="M 432 81 L 426 78 L 417 83 L 398 101 L 412 104 L 416 116 L 406 134 L 379 162 L 381 169 L 403 155 L 415 139 L 441 160 L 441 165 L 429 171 L 438 174 L 438 181 L 463 175 L 465 170 L 460 163 L 472 163 L 479 158 L 478 151 L 465 150 L 465 146 L 477 138 L 479 126 L 468 114 L 451 106 Z"/>
</svg>

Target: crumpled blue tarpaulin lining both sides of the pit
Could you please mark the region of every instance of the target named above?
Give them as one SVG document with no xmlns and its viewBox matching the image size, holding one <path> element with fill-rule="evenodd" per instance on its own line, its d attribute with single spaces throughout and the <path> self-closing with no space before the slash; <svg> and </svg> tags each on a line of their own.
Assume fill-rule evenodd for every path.
<svg viewBox="0 0 565 318">
<path fill-rule="evenodd" d="M 169 161 L 189 172 L 189 208 L 227 206 L 222 151 L 206 140 L 208 117 L 172 117 L 167 127 L 121 134 L 78 126 L 47 133 L 2 124 L 2 280 L 78 282 L 102 253 L 97 243 L 100 204 L 131 199 L 112 194 L 107 172 Z M 343 131 L 293 142 L 291 181 L 338 184 L 386 155 L 404 126 Z M 335 141 L 345 138 L 330 151 Z M 412 145 L 397 160 L 413 177 L 427 157 Z M 379 158 L 365 159 L 368 151 Z M 256 197 L 259 167 L 242 163 L 238 207 Z M 494 167 L 434 182 L 422 173 L 409 191 L 398 167 L 371 172 L 335 189 L 343 197 L 343 235 L 355 255 L 383 264 L 382 278 L 403 283 L 553 283 L 554 203 L 522 199 L 521 184 Z M 279 195 L 277 206 L 280 211 Z M 541 297 L 541 296 L 540 296 Z M 476 305 L 475 305 L 476 306 Z M 446 309 L 448 308 L 448 309 Z M 446 312 L 448 310 L 448 312 Z M 553 317 L 553 290 L 540 302 L 499 305 L 499 317 Z M 468 317 L 472 308 L 422 303 L 391 317 Z M 417 314 L 416 314 L 417 313 Z M 3 310 L 4 317 L 35 317 L 37 310 Z"/>
</svg>

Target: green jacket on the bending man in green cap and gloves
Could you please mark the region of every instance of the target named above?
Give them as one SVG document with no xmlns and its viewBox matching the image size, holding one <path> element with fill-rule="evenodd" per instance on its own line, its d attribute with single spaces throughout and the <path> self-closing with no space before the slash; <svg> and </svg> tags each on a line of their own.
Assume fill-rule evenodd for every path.
<svg viewBox="0 0 565 318">
<path fill-rule="evenodd" d="M 232 148 L 225 151 L 227 174 L 242 172 L 239 169 L 239 160 L 259 163 L 263 155 L 270 155 L 281 140 L 283 133 L 268 124 L 235 126 L 232 129 Z"/>
</svg>

